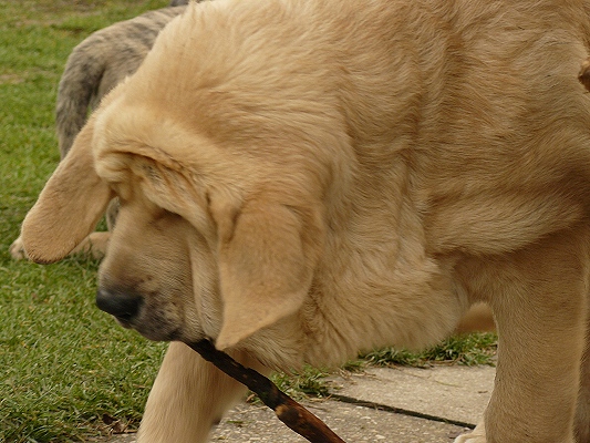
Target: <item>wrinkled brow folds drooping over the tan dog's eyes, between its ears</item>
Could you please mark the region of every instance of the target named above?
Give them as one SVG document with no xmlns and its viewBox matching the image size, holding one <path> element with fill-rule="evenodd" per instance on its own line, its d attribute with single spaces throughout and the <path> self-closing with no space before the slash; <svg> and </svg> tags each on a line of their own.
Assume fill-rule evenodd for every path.
<svg viewBox="0 0 590 443">
<path fill-rule="evenodd" d="M 189 154 L 206 143 L 146 107 L 115 101 L 96 119 L 94 168 L 123 200 L 178 214 L 206 234 L 211 230 L 206 174 Z"/>
</svg>

